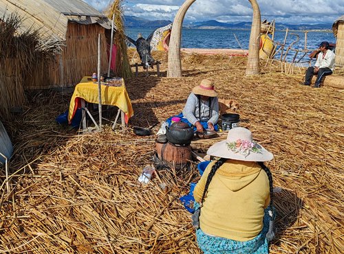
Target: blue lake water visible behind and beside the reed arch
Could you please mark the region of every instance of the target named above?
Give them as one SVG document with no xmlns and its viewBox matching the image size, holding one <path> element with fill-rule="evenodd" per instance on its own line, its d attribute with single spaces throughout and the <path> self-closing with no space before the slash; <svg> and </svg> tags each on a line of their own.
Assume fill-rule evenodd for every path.
<svg viewBox="0 0 344 254">
<path fill-rule="evenodd" d="M 127 28 L 125 34 L 136 40 L 140 32 L 144 38 L 147 38 L 154 29 L 148 28 Z M 283 43 L 286 31 L 276 31 L 274 41 Z M 186 48 L 205 48 L 205 49 L 248 49 L 250 40 L 250 30 L 219 30 L 219 29 L 183 29 L 181 47 Z M 336 43 L 332 32 L 312 31 L 307 33 L 307 49 L 317 49 L 322 41 Z M 286 47 L 291 43 L 294 49 L 305 48 L 305 33 L 299 31 L 289 31 Z M 285 48 L 286 48 L 285 47 Z M 278 47 L 277 47 L 278 49 Z M 291 51 L 288 60 L 291 60 L 295 51 Z M 301 57 L 301 53 L 298 57 Z M 279 54 L 276 58 L 279 59 Z M 298 59 L 296 59 L 298 60 Z"/>
</svg>

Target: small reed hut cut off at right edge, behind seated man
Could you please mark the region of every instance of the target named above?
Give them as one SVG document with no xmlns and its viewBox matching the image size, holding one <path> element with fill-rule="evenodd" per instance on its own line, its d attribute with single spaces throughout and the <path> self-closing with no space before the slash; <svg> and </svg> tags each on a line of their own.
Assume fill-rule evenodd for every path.
<svg viewBox="0 0 344 254">
<path fill-rule="evenodd" d="M 344 67 L 344 15 L 334 21 L 332 30 L 336 37 L 336 67 Z"/>
</svg>

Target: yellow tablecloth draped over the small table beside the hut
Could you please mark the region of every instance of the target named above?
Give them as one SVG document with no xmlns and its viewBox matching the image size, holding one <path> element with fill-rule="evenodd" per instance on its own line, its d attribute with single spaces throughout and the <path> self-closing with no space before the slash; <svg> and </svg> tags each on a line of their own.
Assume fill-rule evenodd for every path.
<svg viewBox="0 0 344 254">
<path fill-rule="evenodd" d="M 68 111 L 68 122 L 72 122 L 72 119 L 78 108 L 81 108 L 82 100 L 89 103 L 98 104 L 98 82 L 92 82 L 92 77 L 85 76 L 76 84 L 72 99 L 69 103 Z M 133 116 L 133 107 L 125 89 L 125 81 L 121 78 L 121 86 L 109 86 L 106 82 L 102 82 L 100 85 L 101 89 L 101 100 L 102 105 L 117 106 L 123 113 L 125 113 L 125 123 Z"/>
</svg>

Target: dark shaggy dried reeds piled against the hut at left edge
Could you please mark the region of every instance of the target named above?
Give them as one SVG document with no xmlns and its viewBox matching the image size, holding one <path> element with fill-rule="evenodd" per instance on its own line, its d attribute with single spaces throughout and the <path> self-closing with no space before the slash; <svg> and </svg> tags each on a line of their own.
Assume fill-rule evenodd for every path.
<svg viewBox="0 0 344 254">
<path fill-rule="evenodd" d="M 22 19 L 17 14 L 3 17 L 0 25 L 0 115 L 10 117 L 10 109 L 26 103 L 25 80 L 32 76 L 36 62 L 52 58 L 53 49 L 39 40 L 37 30 L 17 34 Z"/>
</svg>

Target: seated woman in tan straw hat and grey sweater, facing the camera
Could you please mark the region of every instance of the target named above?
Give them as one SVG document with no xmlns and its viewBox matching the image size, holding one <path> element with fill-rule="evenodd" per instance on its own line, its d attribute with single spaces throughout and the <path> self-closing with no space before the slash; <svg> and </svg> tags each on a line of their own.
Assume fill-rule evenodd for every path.
<svg viewBox="0 0 344 254">
<path fill-rule="evenodd" d="M 204 132 L 206 129 L 218 131 L 219 101 L 213 82 L 206 79 L 202 80 L 200 85 L 195 86 L 182 113 L 167 119 L 158 131 L 158 135 L 165 134 L 165 126 L 170 126 L 173 118 L 178 118 L 180 122 L 193 126 L 194 131 Z"/>
</svg>

